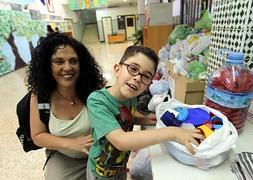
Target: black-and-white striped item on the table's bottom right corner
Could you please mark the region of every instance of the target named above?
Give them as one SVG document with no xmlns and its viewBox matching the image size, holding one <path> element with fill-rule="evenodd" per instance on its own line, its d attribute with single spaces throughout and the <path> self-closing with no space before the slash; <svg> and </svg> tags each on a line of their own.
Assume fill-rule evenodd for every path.
<svg viewBox="0 0 253 180">
<path fill-rule="evenodd" d="M 231 165 L 232 172 L 237 176 L 238 180 L 253 179 L 253 153 L 242 152 L 236 154 L 235 161 Z"/>
</svg>

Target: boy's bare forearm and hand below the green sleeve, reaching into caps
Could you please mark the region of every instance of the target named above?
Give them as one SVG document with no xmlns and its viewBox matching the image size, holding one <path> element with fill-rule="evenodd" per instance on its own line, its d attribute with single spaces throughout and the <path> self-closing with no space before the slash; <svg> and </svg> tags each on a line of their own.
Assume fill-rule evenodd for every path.
<svg viewBox="0 0 253 180">
<path fill-rule="evenodd" d="M 119 150 L 135 150 L 164 141 L 174 140 L 184 145 L 191 153 L 194 149 L 191 143 L 198 145 L 197 139 L 204 139 L 198 129 L 183 129 L 166 127 L 161 129 L 125 132 L 116 129 L 106 135 L 106 138 Z"/>
</svg>

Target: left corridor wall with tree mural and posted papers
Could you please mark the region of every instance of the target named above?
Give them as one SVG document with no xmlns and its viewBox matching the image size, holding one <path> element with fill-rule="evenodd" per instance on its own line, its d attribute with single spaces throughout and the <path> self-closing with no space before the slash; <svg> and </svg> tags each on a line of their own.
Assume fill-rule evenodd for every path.
<svg viewBox="0 0 253 180">
<path fill-rule="evenodd" d="M 77 40 L 82 39 L 85 22 L 79 21 L 80 13 L 66 4 L 51 0 L 49 12 L 40 0 L 10 2 L 14 1 L 0 1 L 0 76 L 29 63 L 39 37 L 46 35 L 46 24 L 59 26 L 61 31 L 71 30 Z"/>
</svg>

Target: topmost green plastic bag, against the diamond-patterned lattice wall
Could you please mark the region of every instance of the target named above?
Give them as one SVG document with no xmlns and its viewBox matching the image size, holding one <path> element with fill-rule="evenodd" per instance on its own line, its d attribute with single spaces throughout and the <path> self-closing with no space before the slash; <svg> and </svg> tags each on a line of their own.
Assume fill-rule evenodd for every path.
<svg viewBox="0 0 253 180">
<path fill-rule="evenodd" d="M 213 17 L 208 10 L 204 10 L 201 12 L 200 19 L 195 23 L 195 29 L 201 30 L 206 29 L 208 31 L 212 28 L 212 20 Z"/>
</svg>

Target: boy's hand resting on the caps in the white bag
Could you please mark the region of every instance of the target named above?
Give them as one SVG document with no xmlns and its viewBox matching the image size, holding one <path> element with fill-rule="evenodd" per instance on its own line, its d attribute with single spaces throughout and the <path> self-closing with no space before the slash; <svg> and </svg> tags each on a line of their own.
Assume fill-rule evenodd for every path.
<svg viewBox="0 0 253 180">
<path fill-rule="evenodd" d="M 201 134 L 199 129 L 184 129 L 184 128 L 175 128 L 174 133 L 174 141 L 177 141 L 178 143 L 184 145 L 192 154 L 195 154 L 195 151 L 191 145 L 191 143 L 195 144 L 196 146 L 199 145 L 198 141 L 203 140 L 204 136 Z"/>
</svg>

